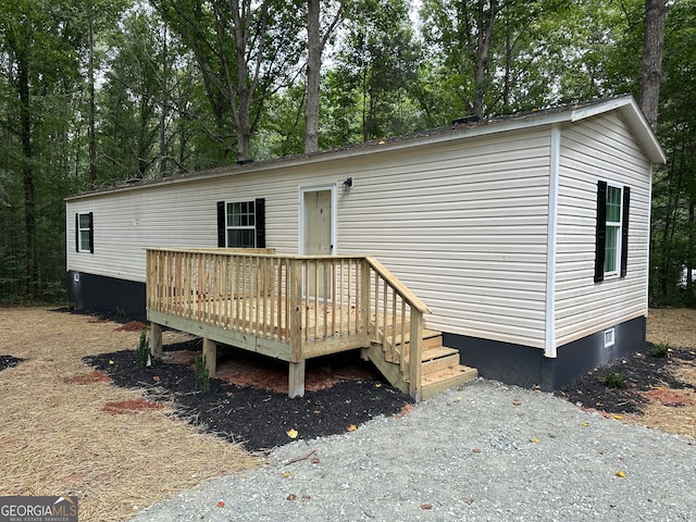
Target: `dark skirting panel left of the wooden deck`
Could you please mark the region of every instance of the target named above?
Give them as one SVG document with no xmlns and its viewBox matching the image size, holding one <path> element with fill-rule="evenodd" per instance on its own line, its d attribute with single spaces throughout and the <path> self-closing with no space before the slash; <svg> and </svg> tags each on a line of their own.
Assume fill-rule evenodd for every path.
<svg viewBox="0 0 696 522">
<path fill-rule="evenodd" d="M 145 283 L 71 270 L 67 271 L 67 295 L 76 310 L 147 316 Z"/>
</svg>

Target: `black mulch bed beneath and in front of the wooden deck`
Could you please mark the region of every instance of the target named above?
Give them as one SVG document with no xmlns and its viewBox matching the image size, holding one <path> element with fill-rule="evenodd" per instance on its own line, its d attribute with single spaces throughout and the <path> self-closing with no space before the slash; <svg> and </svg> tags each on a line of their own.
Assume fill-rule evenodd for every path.
<svg viewBox="0 0 696 522">
<path fill-rule="evenodd" d="M 199 351 L 200 340 L 165 346 L 163 359 L 176 360 L 173 352 L 178 350 Z M 375 417 L 397 414 L 412 403 L 409 396 L 376 375 L 335 378 L 331 387 L 307 390 L 304 397 L 290 399 L 286 393 L 237 386 L 220 378 L 211 380 L 210 391 L 202 394 L 197 390 L 195 370 L 189 364 L 158 359 L 140 370 L 134 350 L 88 357 L 85 361 L 117 386 L 146 389 L 150 400 L 173 401 L 179 414 L 192 424 L 241 443 L 249 451 L 265 451 L 294 438 L 346 433 Z M 321 374 L 331 364 L 324 359 L 321 368 L 314 368 L 311 362 L 308 361 L 308 381 L 312 373 Z M 345 364 L 335 362 L 336 368 Z M 256 363 L 272 365 L 274 361 L 259 358 Z"/>
</svg>

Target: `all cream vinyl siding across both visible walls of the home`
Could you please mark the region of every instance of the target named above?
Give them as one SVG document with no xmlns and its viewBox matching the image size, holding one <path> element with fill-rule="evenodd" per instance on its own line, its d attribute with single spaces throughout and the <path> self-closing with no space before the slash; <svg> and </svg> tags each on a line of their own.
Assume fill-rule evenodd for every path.
<svg viewBox="0 0 696 522">
<path fill-rule="evenodd" d="M 560 347 L 647 313 L 651 169 L 619 111 L 558 123 L 554 220 L 552 124 L 484 125 L 69 198 L 69 216 L 94 212 L 99 248 L 76 254 L 67 223 L 67 269 L 145 282 L 147 247 L 214 248 L 216 203 L 257 198 L 265 201 L 265 246 L 297 254 L 302 190 L 335 186 L 336 253 L 380 259 L 431 307 L 430 328 L 552 353 L 549 316 L 549 343 Z M 600 179 L 631 188 L 631 220 L 626 277 L 595 283 Z"/>
</svg>

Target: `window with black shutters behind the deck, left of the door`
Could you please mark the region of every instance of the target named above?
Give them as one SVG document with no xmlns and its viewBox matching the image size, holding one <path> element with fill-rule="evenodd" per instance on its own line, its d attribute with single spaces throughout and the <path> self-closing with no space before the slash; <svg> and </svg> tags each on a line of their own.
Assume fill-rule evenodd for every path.
<svg viewBox="0 0 696 522">
<path fill-rule="evenodd" d="M 265 200 L 217 202 L 217 246 L 265 248 Z"/>
</svg>

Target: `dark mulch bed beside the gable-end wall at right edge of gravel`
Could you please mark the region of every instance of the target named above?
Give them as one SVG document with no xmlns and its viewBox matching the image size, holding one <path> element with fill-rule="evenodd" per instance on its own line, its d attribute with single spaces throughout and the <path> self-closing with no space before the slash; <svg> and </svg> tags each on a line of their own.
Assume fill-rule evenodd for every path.
<svg viewBox="0 0 696 522">
<path fill-rule="evenodd" d="M 607 413 L 641 413 L 649 402 L 650 394 L 666 388 L 696 389 L 696 386 L 676 378 L 672 370 L 679 361 L 696 360 L 696 352 L 673 349 L 668 357 L 655 357 L 655 345 L 646 343 L 642 352 L 627 356 L 611 364 L 596 368 L 577 381 L 559 389 L 556 395 L 583 408 Z M 620 375 L 624 387 L 607 386 L 607 375 Z M 670 406 L 669 401 L 662 403 Z M 671 406 L 683 406 L 679 401 Z"/>
</svg>

